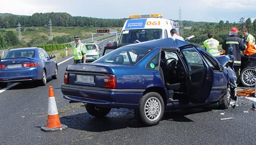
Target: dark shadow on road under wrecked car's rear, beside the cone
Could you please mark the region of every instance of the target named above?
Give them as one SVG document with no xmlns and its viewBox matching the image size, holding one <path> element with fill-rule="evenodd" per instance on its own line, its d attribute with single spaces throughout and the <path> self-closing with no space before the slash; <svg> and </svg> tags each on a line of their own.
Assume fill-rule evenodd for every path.
<svg viewBox="0 0 256 145">
<path fill-rule="evenodd" d="M 107 116 L 102 118 L 93 117 L 88 113 L 81 113 L 60 117 L 60 120 L 62 124 L 67 125 L 69 128 L 90 132 L 103 132 L 127 127 L 144 127 L 135 120 L 132 109 L 112 109 Z"/>
</svg>

